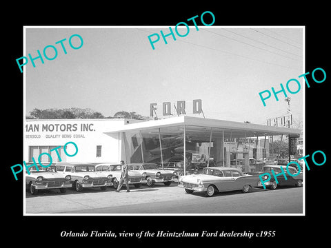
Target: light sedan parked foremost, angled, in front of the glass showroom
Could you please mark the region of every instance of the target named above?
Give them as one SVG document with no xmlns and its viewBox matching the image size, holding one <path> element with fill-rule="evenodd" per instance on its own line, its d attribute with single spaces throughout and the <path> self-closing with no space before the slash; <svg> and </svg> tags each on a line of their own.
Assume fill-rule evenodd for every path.
<svg viewBox="0 0 331 248">
<path fill-rule="evenodd" d="M 232 167 L 205 167 L 202 174 L 192 174 L 179 178 L 179 187 L 185 192 L 204 192 L 205 196 L 213 196 L 216 192 L 228 192 L 242 190 L 250 191 L 251 187 L 257 187 L 258 176 L 243 174 L 240 169 Z"/>
</svg>

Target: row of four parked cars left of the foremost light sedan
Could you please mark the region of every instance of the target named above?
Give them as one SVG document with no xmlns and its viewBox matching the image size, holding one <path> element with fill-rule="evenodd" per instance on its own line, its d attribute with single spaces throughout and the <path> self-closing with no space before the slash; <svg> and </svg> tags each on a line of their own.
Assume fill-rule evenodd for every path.
<svg viewBox="0 0 331 248">
<path fill-rule="evenodd" d="M 129 167 L 129 184 L 139 188 L 141 183 L 151 187 L 154 183 L 170 185 L 177 176 L 175 170 L 159 169 L 153 163 L 132 163 Z M 121 178 L 121 165 L 102 163 L 57 163 L 49 167 L 30 167 L 30 174 L 26 174 L 26 189 L 30 194 L 37 194 L 39 189 L 59 189 L 65 193 L 72 187 L 81 192 L 86 187 L 107 187 L 117 189 Z"/>
</svg>

